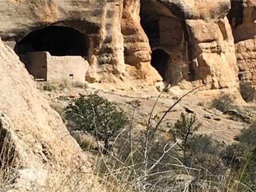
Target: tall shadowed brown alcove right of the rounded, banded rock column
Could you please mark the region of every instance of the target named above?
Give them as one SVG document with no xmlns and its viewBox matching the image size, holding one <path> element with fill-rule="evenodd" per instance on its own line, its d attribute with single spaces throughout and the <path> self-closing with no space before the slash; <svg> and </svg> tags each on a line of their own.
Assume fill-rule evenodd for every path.
<svg viewBox="0 0 256 192">
<path fill-rule="evenodd" d="M 159 71 L 164 81 L 174 85 L 183 78 L 188 81 L 195 81 L 196 78 L 195 66 L 193 65 L 195 56 L 186 27 L 185 15 L 175 5 L 176 3 L 166 5 L 161 1 L 141 0 L 139 13 L 141 26 L 148 37 L 151 51 L 162 49 L 165 53 L 161 54 L 166 55 L 164 58 L 168 56 L 168 60 L 166 59 L 168 63 L 163 64 L 164 58 L 159 61 L 166 69 L 165 74 L 162 72 L 162 67 L 154 67 Z M 153 60 L 155 55 L 151 57 Z M 155 61 L 151 61 L 151 65 L 154 63 Z"/>
</svg>

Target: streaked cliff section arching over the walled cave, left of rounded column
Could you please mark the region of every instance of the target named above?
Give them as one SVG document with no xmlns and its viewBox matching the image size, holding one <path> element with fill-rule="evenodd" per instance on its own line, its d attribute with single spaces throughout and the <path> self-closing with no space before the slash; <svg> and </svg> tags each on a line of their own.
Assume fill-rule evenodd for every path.
<svg viewBox="0 0 256 192">
<path fill-rule="evenodd" d="M 0 36 L 14 47 L 30 32 L 47 26 L 75 28 L 90 41 L 85 48 L 92 66 L 88 81 L 99 81 L 96 72 L 124 71 L 123 46 L 119 45 L 122 35 L 118 32 L 121 6 L 119 1 L 1 1 Z"/>
</svg>

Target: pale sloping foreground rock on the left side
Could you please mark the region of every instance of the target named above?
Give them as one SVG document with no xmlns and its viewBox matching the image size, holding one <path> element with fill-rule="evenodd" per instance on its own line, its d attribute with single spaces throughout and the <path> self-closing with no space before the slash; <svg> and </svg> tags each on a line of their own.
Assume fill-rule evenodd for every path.
<svg viewBox="0 0 256 192">
<path fill-rule="evenodd" d="M 0 73 L 0 122 L 9 132 L 18 155 L 19 177 L 14 189 L 42 191 L 47 180 L 57 177 L 55 171 L 65 178 L 77 169 L 87 177 L 87 157 L 68 134 L 59 114 L 42 99 L 24 64 L 1 39 Z"/>
</svg>

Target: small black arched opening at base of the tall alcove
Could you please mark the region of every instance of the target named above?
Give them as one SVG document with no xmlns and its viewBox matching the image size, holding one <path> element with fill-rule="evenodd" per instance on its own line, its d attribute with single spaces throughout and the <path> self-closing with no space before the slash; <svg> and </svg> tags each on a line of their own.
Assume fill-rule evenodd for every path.
<svg viewBox="0 0 256 192">
<path fill-rule="evenodd" d="M 151 65 L 162 76 L 163 81 L 168 81 L 168 63 L 170 56 L 163 49 L 156 49 L 151 54 Z"/>
</svg>

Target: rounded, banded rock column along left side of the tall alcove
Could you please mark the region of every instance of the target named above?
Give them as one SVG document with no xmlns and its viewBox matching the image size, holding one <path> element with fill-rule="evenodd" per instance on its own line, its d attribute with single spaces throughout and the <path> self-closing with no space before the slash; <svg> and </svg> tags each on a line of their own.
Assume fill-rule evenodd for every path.
<svg viewBox="0 0 256 192">
<path fill-rule="evenodd" d="M 122 13 L 122 35 L 124 41 L 124 56 L 126 74 L 129 80 L 142 80 L 154 85 L 162 81 L 156 70 L 150 65 L 151 48 L 148 37 L 140 23 L 139 0 L 125 0 Z"/>
</svg>

